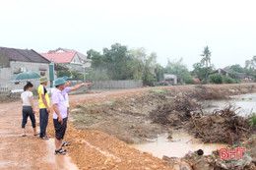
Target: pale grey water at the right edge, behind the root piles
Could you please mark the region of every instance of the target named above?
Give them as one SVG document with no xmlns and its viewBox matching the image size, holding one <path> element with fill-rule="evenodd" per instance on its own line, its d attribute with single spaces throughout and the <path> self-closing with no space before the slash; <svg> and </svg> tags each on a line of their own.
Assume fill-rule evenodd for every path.
<svg viewBox="0 0 256 170">
<path fill-rule="evenodd" d="M 256 93 L 248 93 L 230 96 L 228 100 L 209 100 L 203 104 L 207 107 L 204 113 L 212 113 L 215 109 L 222 109 L 224 106 L 231 104 L 240 107 L 237 114 L 240 116 L 248 116 L 251 112 L 256 112 Z"/>
</svg>

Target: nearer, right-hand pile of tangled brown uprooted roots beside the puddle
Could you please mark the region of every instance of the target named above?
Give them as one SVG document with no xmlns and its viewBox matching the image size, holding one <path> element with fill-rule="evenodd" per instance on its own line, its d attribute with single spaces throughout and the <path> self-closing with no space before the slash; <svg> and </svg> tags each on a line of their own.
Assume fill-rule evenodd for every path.
<svg viewBox="0 0 256 170">
<path fill-rule="evenodd" d="M 222 110 L 215 110 L 212 115 L 195 118 L 191 124 L 195 135 L 203 142 L 229 144 L 248 139 L 256 133 L 256 129 L 248 124 L 247 119 L 235 113 L 238 109 L 228 105 Z"/>
</svg>

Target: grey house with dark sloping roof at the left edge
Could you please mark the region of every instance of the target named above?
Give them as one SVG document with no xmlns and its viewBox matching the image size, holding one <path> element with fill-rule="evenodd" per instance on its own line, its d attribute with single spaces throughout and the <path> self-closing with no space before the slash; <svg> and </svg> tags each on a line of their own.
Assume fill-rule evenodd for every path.
<svg viewBox="0 0 256 170">
<path fill-rule="evenodd" d="M 27 83 L 15 85 L 10 79 L 22 72 L 35 72 L 49 77 L 50 61 L 32 49 L 16 49 L 0 47 L 0 91 L 23 89 Z M 38 82 L 32 82 L 34 87 Z"/>
</svg>

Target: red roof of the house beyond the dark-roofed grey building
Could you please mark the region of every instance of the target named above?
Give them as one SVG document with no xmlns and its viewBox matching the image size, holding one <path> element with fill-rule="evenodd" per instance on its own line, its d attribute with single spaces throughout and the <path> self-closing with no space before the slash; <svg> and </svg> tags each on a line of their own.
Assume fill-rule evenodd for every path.
<svg viewBox="0 0 256 170">
<path fill-rule="evenodd" d="M 55 63 L 71 63 L 76 52 L 41 53 L 43 57 Z"/>
</svg>

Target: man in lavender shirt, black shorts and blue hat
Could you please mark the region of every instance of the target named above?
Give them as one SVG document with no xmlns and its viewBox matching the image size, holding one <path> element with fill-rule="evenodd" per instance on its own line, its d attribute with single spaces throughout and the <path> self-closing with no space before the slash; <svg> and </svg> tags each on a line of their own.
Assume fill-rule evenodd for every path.
<svg viewBox="0 0 256 170">
<path fill-rule="evenodd" d="M 53 124 L 55 128 L 55 154 L 66 154 L 67 150 L 62 148 L 62 141 L 67 129 L 68 107 L 62 91 L 65 89 L 66 81 L 63 78 L 55 80 L 56 89 L 53 91 L 51 100 L 53 104 Z"/>
</svg>

